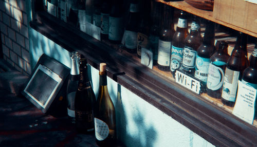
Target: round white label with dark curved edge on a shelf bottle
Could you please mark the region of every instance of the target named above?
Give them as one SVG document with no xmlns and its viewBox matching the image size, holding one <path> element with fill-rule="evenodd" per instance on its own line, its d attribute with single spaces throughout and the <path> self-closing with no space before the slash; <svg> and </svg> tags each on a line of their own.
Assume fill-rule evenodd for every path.
<svg viewBox="0 0 257 147">
<path fill-rule="evenodd" d="M 224 71 L 221 67 L 217 67 L 210 63 L 207 87 L 211 90 L 217 90 L 223 86 Z"/>
</svg>

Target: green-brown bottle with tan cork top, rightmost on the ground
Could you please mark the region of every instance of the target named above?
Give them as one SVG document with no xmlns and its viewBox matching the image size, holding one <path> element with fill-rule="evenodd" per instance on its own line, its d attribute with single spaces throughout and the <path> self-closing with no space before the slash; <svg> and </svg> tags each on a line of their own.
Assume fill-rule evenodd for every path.
<svg viewBox="0 0 257 147">
<path fill-rule="evenodd" d="M 100 64 L 99 93 L 95 111 L 96 142 L 100 146 L 113 146 L 116 142 L 115 107 L 107 89 L 106 63 Z"/>
</svg>

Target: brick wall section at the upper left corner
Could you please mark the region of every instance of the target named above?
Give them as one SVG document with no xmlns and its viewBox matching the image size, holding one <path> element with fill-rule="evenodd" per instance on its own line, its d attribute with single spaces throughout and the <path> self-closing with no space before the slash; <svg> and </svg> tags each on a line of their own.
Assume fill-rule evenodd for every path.
<svg viewBox="0 0 257 147">
<path fill-rule="evenodd" d="M 25 0 L 0 0 L 4 59 L 24 74 L 31 73 Z"/>
</svg>

